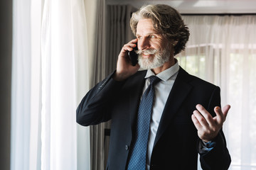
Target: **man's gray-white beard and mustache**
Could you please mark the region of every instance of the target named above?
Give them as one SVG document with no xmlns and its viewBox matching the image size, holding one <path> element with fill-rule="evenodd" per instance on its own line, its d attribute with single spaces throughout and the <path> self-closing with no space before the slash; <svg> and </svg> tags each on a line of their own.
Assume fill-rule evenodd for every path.
<svg viewBox="0 0 256 170">
<path fill-rule="evenodd" d="M 142 53 L 154 55 L 153 57 L 144 58 Z M 161 67 L 165 62 L 170 60 L 171 50 L 168 50 L 167 47 L 164 50 L 139 50 L 138 51 L 138 63 L 142 69 L 154 69 Z"/>
</svg>

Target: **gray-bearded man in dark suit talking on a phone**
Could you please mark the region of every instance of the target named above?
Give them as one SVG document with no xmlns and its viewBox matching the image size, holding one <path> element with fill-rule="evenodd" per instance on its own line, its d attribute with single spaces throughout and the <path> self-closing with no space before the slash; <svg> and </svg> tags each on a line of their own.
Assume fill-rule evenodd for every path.
<svg viewBox="0 0 256 170">
<path fill-rule="evenodd" d="M 180 14 L 166 5 L 143 6 L 130 23 L 137 38 L 77 109 L 80 125 L 112 120 L 107 169 L 196 170 L 198 152 L 203 169 L 228 169 L 222 126 L 230 106 L 221 111 L 220 88 L 178 66 L 174 55 L 189 36 Z M 139 62 L 132 66 L 128 52 L 136 46 Z"/>
</svg>

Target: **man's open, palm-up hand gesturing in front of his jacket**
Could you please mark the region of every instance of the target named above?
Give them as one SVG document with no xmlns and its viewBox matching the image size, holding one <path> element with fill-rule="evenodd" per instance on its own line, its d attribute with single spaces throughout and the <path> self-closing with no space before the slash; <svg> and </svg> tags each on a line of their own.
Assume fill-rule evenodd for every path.
<svg viewBox="0 0 256 170">
<path fill-rule="evenodd" d="M 218 135 L 218 132 L 223 127 L 230 105 L 226 105 L 223 110 L 216 106 L 214 108 L 214 112 L 216 113 L 214 118 L 200 104 L 196 105 L 196 109 L 193 111 L 192 121 L 198 130 L 198 137 L 204 142 L 209 142 Z"/>
</svg>

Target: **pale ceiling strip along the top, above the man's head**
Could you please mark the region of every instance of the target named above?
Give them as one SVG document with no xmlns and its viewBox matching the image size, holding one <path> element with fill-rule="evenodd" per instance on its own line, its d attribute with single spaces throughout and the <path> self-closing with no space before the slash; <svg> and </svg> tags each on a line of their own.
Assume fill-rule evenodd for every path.
<svg viewBox="0 0 256 170">
<path fill-rule="evenodd" d="M 106 4 L 168 4 L 180 13 L 255 13 L 255 0 L 106 0 Z"/>
</svg>

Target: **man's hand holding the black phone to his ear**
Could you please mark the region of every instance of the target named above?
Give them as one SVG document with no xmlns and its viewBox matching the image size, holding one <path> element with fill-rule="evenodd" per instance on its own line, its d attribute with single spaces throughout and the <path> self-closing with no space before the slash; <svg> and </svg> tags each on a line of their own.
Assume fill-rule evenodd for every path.
<svg viewBox="0 0 256 170">
<path fill-rule="evenodd" d="M 123 81 L 139 70 L 139 64 L 132 66 L 128 56 L 128 52 L 132 51 L 133 47 L 136 47 L 137 41 L 138 40 L 136 38 L 122 47 L 122 50 L 118 55 L 117 72 L 114 74 L 114 80 Z"/>
</svg>

